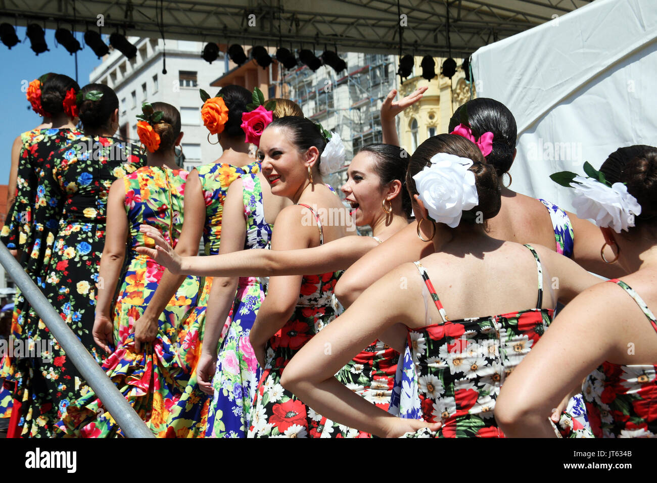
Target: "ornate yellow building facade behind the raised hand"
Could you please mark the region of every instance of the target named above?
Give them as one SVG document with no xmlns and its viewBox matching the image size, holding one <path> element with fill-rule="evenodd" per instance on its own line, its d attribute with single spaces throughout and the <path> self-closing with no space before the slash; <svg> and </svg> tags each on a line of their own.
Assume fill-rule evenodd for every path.
<svg viewBox="0 0 657 483">
<path fill-rule="evenodd" d="M 457 62 L 457 72 L 449 79 L 439 74 L 444 58 L 436 59 L 436 77 L 432 80 L 422 78 L 421 57 L 415 57 L 413 77 L 405 80 L 399 88 L 398 99 L 407 96 L 418 87 L 428 87 L 419 102 L 399 114 L 399 142 L 409 153 L 436 134 L 447 133 L 449 119 L 454 111 L 475 96 L 474 85 L 466 82 L 461 62 Z"/>
</svg>

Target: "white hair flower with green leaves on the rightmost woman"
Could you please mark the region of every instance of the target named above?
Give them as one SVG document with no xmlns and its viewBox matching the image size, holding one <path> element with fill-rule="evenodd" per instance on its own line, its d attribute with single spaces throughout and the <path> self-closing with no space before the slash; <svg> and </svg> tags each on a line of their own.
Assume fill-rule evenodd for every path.
<svg viewBox="0 0 657 483">
<path fill-rule="evenodd" d="M 637 198 L 627 192 L 623 183 L 610 183 L 604 173 L 585 162 L 587 177 L 563 171 L 551 175 L 551 179 L 565 187 L 575 189 L 573 208 L 578 218 L 594 219 L 599 227 L 609 227 L 616 233 L 634 226 L 634 218 L 641 214 Z"/>
</svg>

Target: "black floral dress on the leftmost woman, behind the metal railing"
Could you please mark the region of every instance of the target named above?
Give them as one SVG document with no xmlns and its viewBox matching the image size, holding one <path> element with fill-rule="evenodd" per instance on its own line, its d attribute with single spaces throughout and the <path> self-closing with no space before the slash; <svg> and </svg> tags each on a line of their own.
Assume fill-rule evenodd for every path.
<svg viewBox="0 0 657 483">
<path fill-rule="evenodd" d="M 81 135 L 82 133 L 76 129 L 39 129 L 28 131 L 24 135 L 24 143 L 18 159 L 16 199 L 7 214 L 5 225 L 0 233 L 0 241 L 7 248 L 22 251 L 20 264 L 39 288 L 43 288 L 42 271 L 49 261 L 51 247 L 55 240 L 54 232 L 57 231 L 60 216 L 60 212 L 53 209 L 53 206 L 57 204 L 57 198 L 53 198 L 53 187 L 45 181 L 45 175 L 53 168 L 53 153 L 79 139 Z M 20 290 L 16 290 L 11 324 L 13 338 L 30 338 L 30 333 L 35 333 L 36 328 L 24 330 L 29 311 L 30 304 Z M 32 318 L 34 319 L 34 317 Z M 45 325 L 41 327 L 41 329 L 44 328 Z M 47 338 L 51 339 L 51 337 Z M 34 344 L 30 342 L 30 350 L 34 347 Z M 40 356 L 46 359 L 51 358 L 51 354 L 47 351 L 42 352 Z M 25 422 L 22 416 L 25 409 L 20 409 L 22 400 L 25 398 L 27 401 L 27 398 L 31 397 L 23 390 L 30 386 L 29 382 L 23 382 L 24 378 L 30 378 L 30 373 L 25 372 L 30 369 L 24 365 L 20 367 L 17 362 L 16 358 L 12 359 L 8 355 L 5 355 L 0 361 L 0 379 L 5 380 L 5 390 L 9 389 L 14 392 L 12 396 L 14 409 L 21 415 L 20 418 L 17 417 L 18 413 L 14 415 L 9 428 L 9 434 L 16 436 L 16 432 L 20 432 L 17 425 Z M 46 371 L 43 377 L 47 377 L 47 375 Z M 39 394 L 41 393 L 39 392 Z M 0 413 L 8 413 L 8 407 L 11 404 L 10 398 L 7 398 L 6 392 L 3 392 L 2 396 Z M 31 407 L 31 405 L 32 403 L 26 402 L 26 407 Z M 37 407 L 39 405 L 37 403 Z M 50 411 L 51 409 L 45 406 L 34 413 L 35 420 L 38 420 L 37 426 L 41 429 L 36 426 L 30 428 L 30 434 L 47 435 L 47 430 L 43 428 L 45 426 L 50 428 L 47 424 L 49 416 L 42 415 L 41 411 Z M 32 419 L 32 411 L 30 411 L 28 419 Z M 28 426 L 30 425 L 23 425 L 22 431 L 26 430 Z"/>
</svg>

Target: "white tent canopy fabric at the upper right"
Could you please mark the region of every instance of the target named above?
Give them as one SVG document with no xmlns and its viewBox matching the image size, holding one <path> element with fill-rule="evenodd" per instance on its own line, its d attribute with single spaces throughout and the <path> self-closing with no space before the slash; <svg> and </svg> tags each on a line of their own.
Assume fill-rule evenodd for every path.
<svg viewBox="0 0 657 483">
<path fill-rule="evenodd" d="M 551 173 L 657 145 L 656 40 L 657 2 L 597 0 L 476 51 L 478 96 L 506 104 L 518 124 L 515 191 L 571 209 L 572 190 Z"/>
</svg>

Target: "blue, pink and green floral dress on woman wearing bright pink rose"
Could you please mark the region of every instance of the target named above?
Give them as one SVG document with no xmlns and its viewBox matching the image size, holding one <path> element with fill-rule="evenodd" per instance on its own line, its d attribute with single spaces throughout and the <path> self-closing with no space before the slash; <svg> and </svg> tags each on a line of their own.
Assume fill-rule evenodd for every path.
<svg viewBox="0 0 657 483">
<path fill-rule="evenodd" d="M 260 179 L 254 174 L 242 175 L 241 179 L 246 221 L 244 250 L 269 248 L 271 225 L 265 221 Z M 262 374 L 249 334 L 264 299 L 265 289 L 258 277 L 240 277 L 232 321 L 217 356 L 206 436 L 246 438 L 251 404 Z"/>
</svg>

